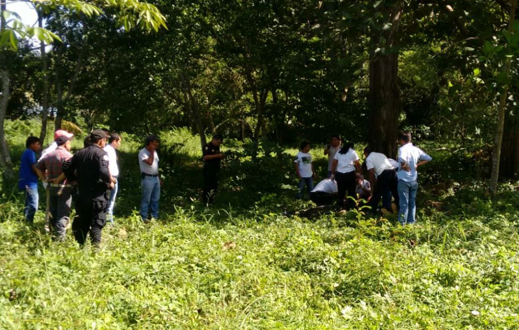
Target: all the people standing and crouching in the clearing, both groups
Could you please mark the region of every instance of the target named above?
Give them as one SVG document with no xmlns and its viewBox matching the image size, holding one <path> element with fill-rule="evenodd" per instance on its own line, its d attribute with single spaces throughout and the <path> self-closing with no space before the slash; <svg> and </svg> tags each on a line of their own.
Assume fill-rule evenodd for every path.
<svg viewBox="0 0 519 330">
<path fill-rule="evenodd" d="M 33 223 L 38 210 L 38 178 L 47 191 L 46 223 L 57 240 L 64 240 L 66 228 L 74 202 L 76 216 L 72 232 L 81 245 L 90 235 L 92 244 L 101 242 L 101 230 L 106 222 L 114 222 L 114 205 L 118 191 L 119 166 L 117 153 L 121 136 L 108 130 L 95 129 L 84 141 L 84 148 L 74 155 L 71 141 L 74 134 L 58 130 L 54 142 L 38 160 L 41 149 L 38 137 L 29 136 L 26 149 L 21 156 L 19 188 L 24 191 L 24 217 Z M 220 152 L 221 135 L 202 147 L 204 203 L 212 203 L 218 186 L 220 162 L 225 155 Z M 417 169 L 431 160 L 420 148 L 413 146 L 410 133 L 399 135 L 398 160 L 364 148 L 365 161 L 360 158 L 351 144 L 342 144 L 340 137 L 332 137 L 324 149 L 328 156 L 327 178 L 313 186 L 316 173 L 313 169 L 310 143 L 303 142 L 294 160 L 295 171 L 300 179 L 298 198 L 302 198 L 306 186 L 310 199 L 318 205 L 332 204 L 335 200 L 341 208 L 349 210 L 364 203 L 372 210 L 397 213 L 401 224 L 413 224 L 416 214 L 418 189 Z M 139 151 L 141 173 L 141 203 L 139 213 L 144 223 L 159 217 L 160 187 L 159 156 L 160 139 L 156 135 L 146 138 Z M 364 179 L 367 173 L 368 180 Z M 392 203 L 394 199 L 394 204 Z"/>
</svg>

